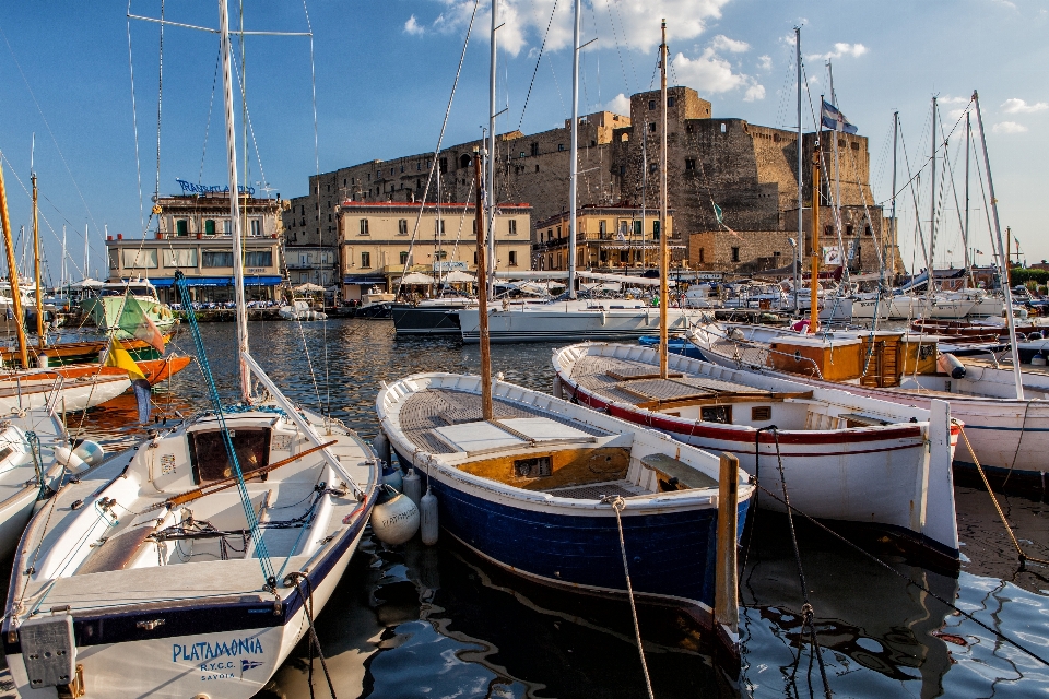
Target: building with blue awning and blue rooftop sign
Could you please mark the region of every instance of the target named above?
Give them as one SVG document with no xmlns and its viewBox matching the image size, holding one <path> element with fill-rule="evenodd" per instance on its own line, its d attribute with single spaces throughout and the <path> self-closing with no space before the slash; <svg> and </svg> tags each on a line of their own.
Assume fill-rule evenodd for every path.
<svg viewBox="0 0 1049 699">
<path fill-rule="evenodd" d="M 244 275 L 248 300 L 275 300 L 283 281 L 279 199 L 241 196 Z M 157 229 L 152 238 L 108 236 L 109 281 L 148 279 L 164 303 L 176 301 L 175 272 L 186 275 L 193 300 L 234 299 L 233 222 L 223 192 L 162 197 L 155 202 Z"/>
</svg>

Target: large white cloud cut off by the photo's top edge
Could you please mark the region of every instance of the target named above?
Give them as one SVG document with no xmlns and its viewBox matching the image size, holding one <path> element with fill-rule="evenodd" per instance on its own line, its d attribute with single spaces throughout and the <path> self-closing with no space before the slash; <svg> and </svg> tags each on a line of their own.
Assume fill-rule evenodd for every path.
<svg viewBox="0 0 1049 699">
<path fill-rule="evenodd" d="M 473 12 L 471 0 L 434 0 L 443 5 L 440 16 L 433 23 L 435 31 L 445 33 L 460 32 L 470 22 Z M 625 39 L 626 47 L 648 52 L 659 46 L 660 32 L 658 17 L 675 17 L 667 26 L 668 43 L 682 43 L 694 39 L 706 29 L 708 20 L 721 16 L 721 8 L 730 0 L 592 0 L 593 14 L 598 26 L 587 28 L 587 37 L 596 33 L 601 37 L 600 46 L 612 47 L 615 38 Z M 483 3 L 487 4 L 487 3 Z M 550 23 L 554 0 L 503 0 L 499 3 L 499 48 L 512 56 L 520 54 L 526 47 L 538 46 L 543 40 L 546 25 Z M 480 10 L 474 24 L 480 40 L 487 39 L 486 28 L 491 25 L 490 10 Z M 611 22 L 614 23 L 614 31 Z M 656 19 L 653 19 L 656 17 Z M 734 44 L 746 46 L 743 42 Z M 546 37 L 546 49 L 556 51 L 571 46 L 571 5 L 563 0 L 557 4 L 550 34 Z M 728 50 L 728 49 L 726 49 Z"/>
</svg>

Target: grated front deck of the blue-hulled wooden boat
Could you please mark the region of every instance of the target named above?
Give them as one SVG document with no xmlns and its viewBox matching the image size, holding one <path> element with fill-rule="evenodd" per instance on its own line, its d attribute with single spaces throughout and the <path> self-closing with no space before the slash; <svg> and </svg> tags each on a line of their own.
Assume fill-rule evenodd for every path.
<svg viewBox="0 0 1049 699">
<path fill-rule="evenodd" d="M 493 417 L 495 419 L 509 419 L 515 417 L 546 417 L 549 419 L 571 425 L 574 428 L 593 435 L 603 437 L 609 433 L 561 418 L 556 415 L 540 412 L 527 405 L 521 405 L 512 401 L 493 400 Z M 451 389 L 427 389 L 419 391 L 409 398 L 401 406 L 400 424 L 401 429 L 412 443 L 421 451 L 434 454 L 455 453 L 449 445 L 437 437 L 434 430 L 449 425 L 460 425 L 462 423 L 475 423 L 481 419 L 481 396 L 465 391 L 455 391 Z M 633 493 L 630 495 L 634 495 Z M 573 496 L 566 496 L 573 497 Z"/>
</svg>

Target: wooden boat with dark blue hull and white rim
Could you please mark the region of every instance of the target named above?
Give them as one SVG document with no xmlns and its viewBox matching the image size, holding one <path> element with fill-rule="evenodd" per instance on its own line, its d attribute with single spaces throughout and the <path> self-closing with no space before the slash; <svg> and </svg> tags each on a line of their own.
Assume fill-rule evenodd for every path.
<svg viewBox="0 0 1049 699">
<path fill-rule="evenodd" d="M 622 595 L 622 497 L 639 600 L 681 605 L 710 625 L 718 460 L 652 429 L 504 381 L 482 419 L 476 376 L 419 374 L 376 399 L 401 463 L 437 497 L 444 531 L 517 574 Z M 740 476 L 739 523 L 753 486 Z"/>
</svg>

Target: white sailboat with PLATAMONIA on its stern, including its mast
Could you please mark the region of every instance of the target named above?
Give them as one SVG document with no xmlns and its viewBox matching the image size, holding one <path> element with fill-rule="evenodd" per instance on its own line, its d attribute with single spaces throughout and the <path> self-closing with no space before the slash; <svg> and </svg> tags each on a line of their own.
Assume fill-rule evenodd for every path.
<svg viewBox="0 0 1049 699">
<path fill-rule="evenodd" d="M 237 192 L 225 0 L 219 20 Z M 190 312 L 212 410 L 67 484 L 23 535 L 3 621 L 23 697 L 252 697 L 304 635 L 316 641 L 314 618 L 364 533 L 376 461 L 249 353 L 236 194 L 229 206 L 241 402 L 220 400 Z"/>
</svg>

